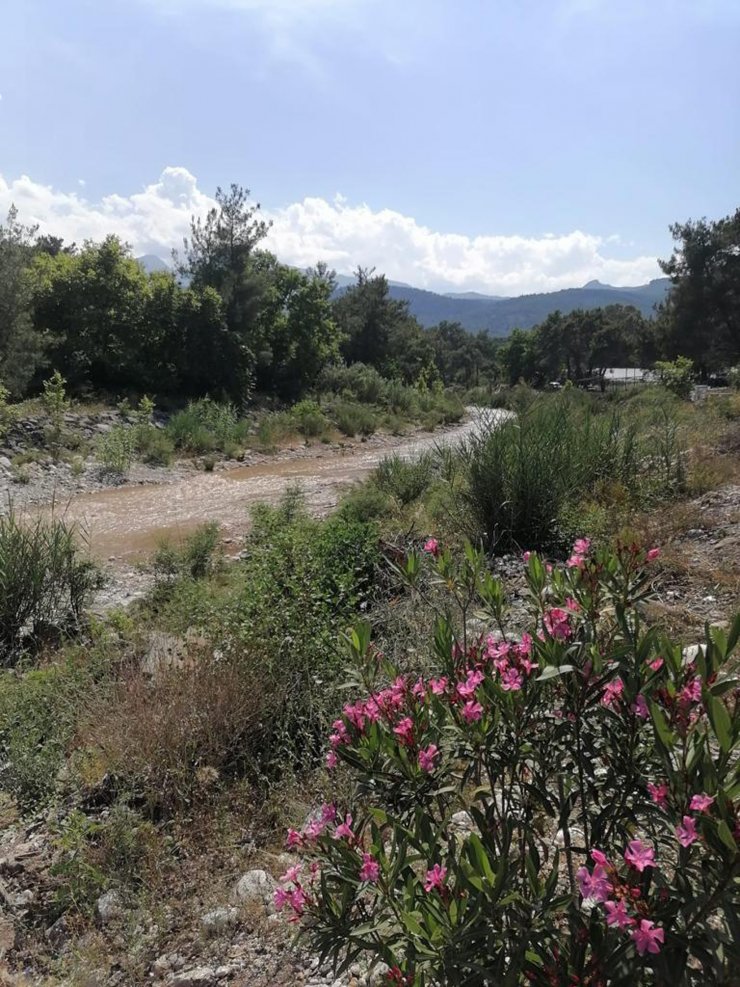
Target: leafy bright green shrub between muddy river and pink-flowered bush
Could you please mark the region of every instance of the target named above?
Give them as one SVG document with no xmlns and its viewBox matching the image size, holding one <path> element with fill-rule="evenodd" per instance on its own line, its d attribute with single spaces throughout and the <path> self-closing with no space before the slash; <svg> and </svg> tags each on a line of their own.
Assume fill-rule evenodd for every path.
<svg viewBox="0 0 740 987">
<path fill-rule="evenodd" d="M 202 627 L 227 658 L 259 669 L 264 694 L 284 696 L 265 751 L 273 766 L 283 763 L 278 749 L 296 766 L 315 757 L 335 711 L 332 642 L 367 607 L 378 561 L 375 525 L 311 518 L 292 491 L 277 507 L 255 508 L 226 588 L 180 581 L 159 611 L 175 632 Z"/>
</svg>

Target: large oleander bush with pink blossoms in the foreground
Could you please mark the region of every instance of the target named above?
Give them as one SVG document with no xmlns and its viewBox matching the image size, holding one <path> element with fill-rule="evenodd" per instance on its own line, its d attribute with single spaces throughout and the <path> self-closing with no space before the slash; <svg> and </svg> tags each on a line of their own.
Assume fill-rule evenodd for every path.
<svg viewBox="0 0 740 987">
<path fill-rule="evenodd" d="M 365 955 L 410 987 L 736 982 L 740 615 L 689 661 L 641 619 L 654 551 L 573 554 L 530 555 L 517 635 L 472 548 L 409 556 L 412 586 L 427 568 L 448 594 L 427 677 L 352 632 L 329 740 L 352 794 L 290 834 L 307 877 L 279 891 L 339 967 Z"/>
</svg>

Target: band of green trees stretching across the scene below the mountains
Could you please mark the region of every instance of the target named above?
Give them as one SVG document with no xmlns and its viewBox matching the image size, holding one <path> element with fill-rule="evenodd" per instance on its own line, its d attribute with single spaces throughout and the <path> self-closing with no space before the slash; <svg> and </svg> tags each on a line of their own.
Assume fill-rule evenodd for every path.
<svg viewBox="0 0 740 987">
<path fill-rule="evenodd" d="M 672 227 L 666 303 L 646 319 L 609 305 L 555 312 L 506 340 L 459 323 L 423 328 L 383 275 L 337 291 L 262 249 L 268 226 L 237 185 L 194 219 L 175 270 L 147 273 L 116 236 L 81 247 L 41 236 L 11 209 L 0 225 L 0 380 L 20 398 L 51 368 L 76 394 L 254 394 L 293 401 L 323 368 L 362 362 L 405 383 L 472 387 L 598 377 L 609 366 L 687 356 L 701 374 L 740 358 L 740 210 Z"/>
</svg>

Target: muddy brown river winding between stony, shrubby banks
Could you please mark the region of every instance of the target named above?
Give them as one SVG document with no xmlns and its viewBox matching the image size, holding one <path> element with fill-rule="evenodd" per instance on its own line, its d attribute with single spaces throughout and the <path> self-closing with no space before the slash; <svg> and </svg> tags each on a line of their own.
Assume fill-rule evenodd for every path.
<svg viewBox="0 0 740 987">
<path fill-rule="evenodd" d="M 317 446 L 315 454 L 300 458 L 278 455 L 258 465 L 192 473 L 168 483 L 78 494 L 62 513 L 83 528 L 94 557 L 117 566 L 130 566 L 148 556 L 164 537 L 182 538 L 205 521 L 218 522 L 227 544 L 238 551 L 239 538 L 249 526 L 251 505 L 276 503 L 288 488 L 299 486 L 309 510 L 326 513 L 343 490 L 366 477 L 384 457 L 410 457 L 460 442 L 481 422 L 477 409 L 469 412 L 468 419 L 454 428 L 385 444 L 360 444 L 346 450 Z"/>
</svg>

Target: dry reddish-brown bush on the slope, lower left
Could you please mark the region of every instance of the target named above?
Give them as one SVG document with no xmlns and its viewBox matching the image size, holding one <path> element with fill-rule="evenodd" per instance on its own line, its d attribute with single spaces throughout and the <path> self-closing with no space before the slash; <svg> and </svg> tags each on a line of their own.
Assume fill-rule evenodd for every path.
<svg viewBox="0 0 740 987">
<path fill-rule="evenodd" d="M 283 686 L 243 656 L 191 645 L 150 681 L 132 668 L 86 704 L 81 749 L 153 816 L 209 798 L 230 774 L 262 775 Z"/>
</svg>

